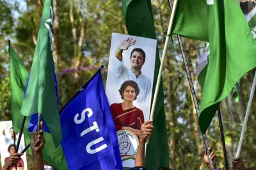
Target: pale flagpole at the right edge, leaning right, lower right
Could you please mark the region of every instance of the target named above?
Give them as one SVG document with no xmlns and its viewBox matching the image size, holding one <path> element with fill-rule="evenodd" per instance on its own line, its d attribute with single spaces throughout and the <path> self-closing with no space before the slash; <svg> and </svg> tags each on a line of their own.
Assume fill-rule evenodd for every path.
<svg viewBox="0 0 256 170">
<path fill-rule="evenodd" d="M 241 132 L 241 136 L 240 136 L 240 140 L 239 140 L 239 144 L 238 144 L 238 148 L 237 148 L 236 158 L 240 157 L 241 148 L 242 148 L 243 139 L 244 139 L 244 133 L 246 130 L 246 124 L 247 124 L 249 114 L 250 114 L 250 109 L 252 106 L 252 99 L 253 99 L 253 94 L 255 91 L 255 86 L 256 86 L 256 72 L 255 72 L 253 83 L 252 83 L 252 89 L 251 89 L 250 98 L 249 98 L 249 102 L 248 102 L 247 109 L 246 109 L 244 124 L 243 124 L 242 132 Z"/>
</svg>

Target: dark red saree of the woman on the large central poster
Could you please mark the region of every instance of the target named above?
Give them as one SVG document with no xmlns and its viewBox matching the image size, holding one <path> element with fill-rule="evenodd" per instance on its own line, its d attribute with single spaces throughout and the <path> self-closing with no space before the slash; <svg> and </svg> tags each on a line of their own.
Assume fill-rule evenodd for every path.
<svg viewBox="0 0 256 170">
<path fill-rule="evenodd" d="M 140 130 L 141 125 L 144 123 L 143 112 L 137 107 L 124 111 L 122 104 L 111 104 L 110 109 L 116 131 L 122 130 L 122 127 L 131 127 Z"/>
</svg>

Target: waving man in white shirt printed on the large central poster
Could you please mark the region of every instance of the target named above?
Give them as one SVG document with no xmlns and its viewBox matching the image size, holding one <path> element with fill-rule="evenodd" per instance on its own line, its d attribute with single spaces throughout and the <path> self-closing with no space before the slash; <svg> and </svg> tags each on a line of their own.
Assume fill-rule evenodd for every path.
<svg viewBox="0 0 256 170">
<path fill-rule="evenodd" d="M 137 102 L 148 102 L 151 82 L 148 77 L 141 73 L 141 67 L 145 63 L 146 54 L 142 49 L 133 49 L 130 56 L 131 68 L 124 66 L 122 52 L 127 50 L 130 46 L 134 45 L 136 40 L 133 38 L 127 38 L 122 41 L 115 52 L 115 59 L 113 62 L 113 73 L 117 84 L 122 84 L 125 81 L 135 81 L 139 88 L 140 94 L 136 99 Z M 127 56 L 125 56 L 127 57 Z"/>
</svg>

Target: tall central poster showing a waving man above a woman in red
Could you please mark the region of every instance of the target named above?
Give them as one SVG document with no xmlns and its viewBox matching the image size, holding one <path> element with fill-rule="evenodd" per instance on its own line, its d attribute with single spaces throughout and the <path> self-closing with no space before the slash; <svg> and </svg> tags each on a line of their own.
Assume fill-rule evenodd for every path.
<svg viewBox="0 0 256 170">
<path fill-rule="evenodd" d="M 106 94 L 124 167 L 134 167 L 141 125 L 149 119 L 157 40 L 113 33 Z"/>
</svg>

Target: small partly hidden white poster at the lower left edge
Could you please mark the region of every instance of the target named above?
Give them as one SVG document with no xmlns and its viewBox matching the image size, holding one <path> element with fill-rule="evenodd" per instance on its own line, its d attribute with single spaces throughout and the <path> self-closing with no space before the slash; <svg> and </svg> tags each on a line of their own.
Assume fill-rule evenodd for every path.
<svg viewBox="0 0 256 170">
<path fill-rule="evenodd" d="M 16 136 L 15 143 L 17 143 L 19 134 L 17 134 L 16 132 L 13 132 L 12 121 L 0 121 L 0 146 L 1 146 L 0 153 L 1 153 L 2 165 L 4 165 L 4 160 L 7 160 L 7 158 L 10 156 L 10 153 L 15 152 L 14 146 L 13 146 L 14 144 L 13 133 L 15 133 L 15 136 Z M 22 134 L 18 152 L 21 152 L 24 148 L 25 148 L 25 142 L 24 142 L 24 135 Z M 28 170 L 26 154 L 20 157 L 20 161 L 18 162 L 18 164 L 20 166 L 17 166 L 17 170 Z M 15 169 L 15 167 L 12 167 L 10 170 L 13 170 L 13 169 Z"/>
</svg>

